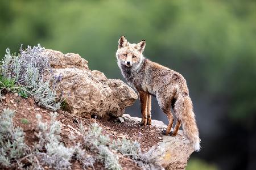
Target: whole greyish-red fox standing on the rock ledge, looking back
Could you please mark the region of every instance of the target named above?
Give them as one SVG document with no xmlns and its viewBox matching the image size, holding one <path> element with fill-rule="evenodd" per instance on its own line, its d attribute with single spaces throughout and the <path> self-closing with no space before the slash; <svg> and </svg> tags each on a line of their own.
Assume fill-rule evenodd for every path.
<svg viewBox="0 0 256 170">
<path fill-rule="evenodd" d="M 138 91 L 141 101 L 141 125 L 151 125 L 151 95 L 155 96 L 169 121 L 167 129 L 163 133 L 170 134 L 174 123 L 174 116 L 170 108 L 172 107 L 177 117 L 172 136 L 176 136 L 182 122 L 185 135 L 192 142 L 195 150 L 199 151 L 199 130 L 186 80 L 176 71 L 144 58 L 142 53 L 145 45 L 145 40 L 138 44 L 130 44 L 125 36 L 121 36 L 116 53 L 122 75 L 128 84 Z"/>
</svg>

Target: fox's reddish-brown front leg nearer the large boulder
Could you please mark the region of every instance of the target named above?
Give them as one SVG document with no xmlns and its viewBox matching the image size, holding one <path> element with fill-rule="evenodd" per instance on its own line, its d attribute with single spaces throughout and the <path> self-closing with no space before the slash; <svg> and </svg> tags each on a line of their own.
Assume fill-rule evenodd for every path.
<svg viewBox="0 0 256 170">
<path fill-rule="evenodd" d="M 141 125 L 147 125 L 147 97 L 148 94 L 143 91 L 139 91 L 139 100 L 141 101 Z"/>
</svg>

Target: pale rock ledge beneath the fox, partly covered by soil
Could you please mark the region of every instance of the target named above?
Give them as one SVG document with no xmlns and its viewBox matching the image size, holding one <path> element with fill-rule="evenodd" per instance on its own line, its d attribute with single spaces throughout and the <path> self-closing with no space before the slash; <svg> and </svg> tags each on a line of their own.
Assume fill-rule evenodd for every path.
<svg viewBox="0 0 256 170">
<path fill-rule="evenodd" d="M 126 120 L 141 121 L 141 118 L 131 117 L 129 114 L 123 114 Z M 152 126 L 159 129 L 166 129 L 162 121 L 152 120 Z M 155 152 L 160 153 L 159 164 L 165 169 L 185 169 L 188 158 L 194 151 L 193 146 L 185 137 L 182 130 L 179 130 L 176 137 L 163 136 L 162 141 L 156 145 Z"/>
</svg>

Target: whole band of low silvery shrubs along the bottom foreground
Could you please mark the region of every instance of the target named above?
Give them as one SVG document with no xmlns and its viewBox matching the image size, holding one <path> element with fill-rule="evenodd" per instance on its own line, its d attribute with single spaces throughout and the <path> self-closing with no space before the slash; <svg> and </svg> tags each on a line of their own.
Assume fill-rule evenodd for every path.
<svg viewBox="0 0 256 170">
<path fill-rule="evenodd" d="M 13 125 L 14 114 L 9 109 L 0 114 L 0 165 L 4 167 L 71 169 L 72 160 L 77 160 L 84 169 L 94 169 L 93 164 L 100 162 L 106 169 L 118 170 L 122 169 L 119 158 L 126 156 L 142 169 L 162 169 L 157 164 L 159 153 L 155 150 L 142 153 L 137 141 L 110 139 L 97 123 L 89 125 L 88 129 L 80 123 L 82 141 L 65 146 L 60 142 L 61 126 L 56 121 L 56 113 L 51 113 L 49 123 L 43 122 L 40 114 L 36 115 L 38 142 L 29 147 L 24 143 L 23 130 Z M 76 141 L 72 135 L 70 139 Z M 30 163 L 28 167 L 23 164 L 24 160 Z"/>
</svg>

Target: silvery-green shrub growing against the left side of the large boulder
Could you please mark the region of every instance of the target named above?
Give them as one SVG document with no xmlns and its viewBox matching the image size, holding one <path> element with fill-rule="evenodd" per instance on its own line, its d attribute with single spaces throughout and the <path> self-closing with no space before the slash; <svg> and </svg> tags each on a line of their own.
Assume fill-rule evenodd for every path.
<svg viewBox="0 0 256 170">
<path fill-rule="evenodd" d="M 36 103 L 55 111 L 60 109 L 62 101 L 56 103 L 56 82 L 59 79 L 47 79 L 44 76 L 44 73 L 51 71 L 51 67 L 43 50 L 40 44 L 33 48 L 28 46 L 26 50 L 20 48 L 19 56 L 15 56 L 10 53 L 9 49 L 6 49 L 0 76 L 14 80 L 17 87 L 12 87 L 13 89 L 27 92 L 27 95 L 34 97 Z M 54 85 L 51 85 L 51 81 Z M 5 88 L 1 84 L 3 83 L 0 82 L 0 87 Z"/>
</svg>

